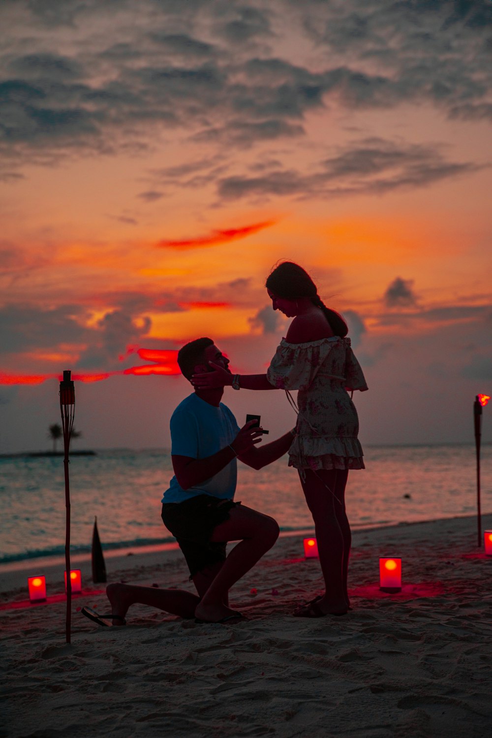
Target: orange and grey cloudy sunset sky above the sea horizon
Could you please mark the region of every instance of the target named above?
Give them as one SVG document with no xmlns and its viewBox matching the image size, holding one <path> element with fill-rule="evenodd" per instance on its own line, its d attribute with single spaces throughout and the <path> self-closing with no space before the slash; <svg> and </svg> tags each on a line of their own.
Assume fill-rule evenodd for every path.
<svg viewBox="0 0 492 738">
<path fill-rule="evenodd" d="M 65 369 L 75 447 L 169 446 L 176 351 L 266 370 L 283 259 L 347 320 L 363 444 L 473 442 L 492 2 L 4 0 L 0 28 L 0 453 L 49 449 Z M 224 401 L 295 423 L 278 390 Z"/>
</svg>

